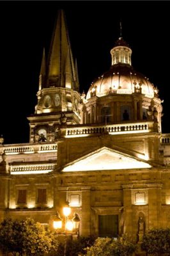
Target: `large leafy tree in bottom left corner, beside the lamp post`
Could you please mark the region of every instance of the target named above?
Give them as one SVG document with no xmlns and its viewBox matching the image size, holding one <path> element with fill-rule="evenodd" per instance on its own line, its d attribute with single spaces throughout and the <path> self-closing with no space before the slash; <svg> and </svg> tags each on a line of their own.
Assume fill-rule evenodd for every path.
<svg viewBox="0 0 170 256">
<path fill-rule="evenodd" d="M 58 240 L 40 223 L 26 220 L 6 219 L 0 225 L 0 247 L 13 255 L 41 256 L 58 250 Z"/>
</svg>

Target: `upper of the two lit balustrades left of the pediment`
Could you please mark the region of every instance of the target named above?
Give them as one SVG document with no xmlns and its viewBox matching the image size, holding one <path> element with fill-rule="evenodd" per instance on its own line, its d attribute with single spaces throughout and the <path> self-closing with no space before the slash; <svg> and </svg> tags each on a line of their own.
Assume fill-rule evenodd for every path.
<svg viewBox="0 0 170 256">
<path fill-rule="evenodd" d="M 56 143 L 45 143 L 45 144 L 34 144 L 34 145 L 4 145 L 3 153 L 6 155 L 14 154 L 32 154 L 35 152 L 44 153 L 44 152 L 57 152 L 58 145 Z"/>
</svg>

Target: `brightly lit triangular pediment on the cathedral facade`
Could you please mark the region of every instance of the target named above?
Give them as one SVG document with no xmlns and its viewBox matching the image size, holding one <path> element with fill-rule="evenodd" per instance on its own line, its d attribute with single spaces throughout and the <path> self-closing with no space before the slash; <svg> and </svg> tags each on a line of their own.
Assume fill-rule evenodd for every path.
<svg viewBox="0 0 170 256">
<path fill-rule="evenodd" d="M 82 172 L 94 170 L 123 170 L 136 168 L 151 168 L 151 165 L 141 159 L 123 154 L 111 148 L 102 147 L 83 156 L 63 168 L 63 172 Z"/>
</svg>

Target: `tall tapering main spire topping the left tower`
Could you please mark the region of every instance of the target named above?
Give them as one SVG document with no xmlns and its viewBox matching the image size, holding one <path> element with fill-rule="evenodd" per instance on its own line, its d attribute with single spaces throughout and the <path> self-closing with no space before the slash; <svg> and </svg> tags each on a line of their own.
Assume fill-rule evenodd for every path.
<svg viewBox="0 0 170 256">
<path fill-rule="evenodd" d="M 47 86 L 65 87 L 65 76 L 66 74 L 68 76 L 68 73 L 71 77 L 70 80 L 72 80 L 70 88 L 73 89 L 75 65 L 73 63 L 72 49 L 66 27 L 65 13 L 63 10 L 59 10 L 50 45 Z"/>
</svg>

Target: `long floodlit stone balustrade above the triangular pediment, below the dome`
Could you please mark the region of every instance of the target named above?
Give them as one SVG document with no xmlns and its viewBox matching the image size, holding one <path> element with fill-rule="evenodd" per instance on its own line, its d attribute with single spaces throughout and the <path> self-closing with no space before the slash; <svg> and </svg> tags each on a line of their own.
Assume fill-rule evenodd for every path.
<svg viewBox="0 0 170 256">
<path fill-rule="evenodd" d="M 151 125 L 153 125 L 151 123 Z M 149 132 L 151 131 L 150 122 L 117 124 L 117 125 L 100 125 L 93 127 L 76 127 L 66 128 L 66 137 L 71 136 L 87 136 L 91 134 L 123 134 L 133 132 Z"/>
</svg>

